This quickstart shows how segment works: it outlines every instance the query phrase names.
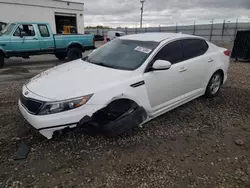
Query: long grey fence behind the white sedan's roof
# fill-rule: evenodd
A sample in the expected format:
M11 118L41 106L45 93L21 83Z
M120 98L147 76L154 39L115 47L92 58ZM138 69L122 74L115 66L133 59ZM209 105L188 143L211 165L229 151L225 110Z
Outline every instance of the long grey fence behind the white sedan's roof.
M238 22L234 23L226 22L210 24L194 24L193 25L178 25L168 27L145 27L145 28L118 28L110 30L119 30L129 34L147 33L147 32L172 32L172 33L185 33L191 35L197 35L206 38L213 42L233 42L238 30L249 30L250 22ZM109 29L85 29L95 35L106 36Z

